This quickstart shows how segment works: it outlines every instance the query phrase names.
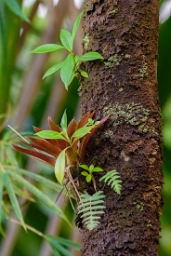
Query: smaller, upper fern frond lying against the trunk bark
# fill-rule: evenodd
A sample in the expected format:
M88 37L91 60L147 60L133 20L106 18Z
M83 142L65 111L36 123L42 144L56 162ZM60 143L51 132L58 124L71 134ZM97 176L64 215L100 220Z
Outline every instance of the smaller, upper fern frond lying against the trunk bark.
M117 193L121 194L121 177L116 170L111 170L107 172L104 176L99 179L99 182L108 182L108 185L111 184L112 189Z

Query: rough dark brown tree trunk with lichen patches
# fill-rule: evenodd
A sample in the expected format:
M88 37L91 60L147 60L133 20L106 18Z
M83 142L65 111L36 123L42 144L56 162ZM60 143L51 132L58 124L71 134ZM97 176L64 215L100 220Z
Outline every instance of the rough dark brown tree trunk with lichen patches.
M116 169L122 193L99 182L105 214L82 231L85 256L158 255L163 201L161 115L157 93L159 0L85 0L84 50L104 61L84 64L82 112L111 114L88 144L86 162ZM103 173L104 174L104 173Z

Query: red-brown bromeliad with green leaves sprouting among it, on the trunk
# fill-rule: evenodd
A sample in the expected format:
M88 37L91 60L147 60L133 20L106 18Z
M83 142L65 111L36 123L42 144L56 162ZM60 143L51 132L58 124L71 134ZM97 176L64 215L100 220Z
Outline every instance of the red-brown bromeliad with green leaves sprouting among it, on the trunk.
M92 119L93 115L94 113L88 112L78 123L73 118L67 126L67 115L64 112L60 127L48 117L49 130L33 127L36 137L29 136L28 142L20 140L22 145L12 143L12 146L54 167L57 180L63 185L64 178L71 181L77 177L79 165L85 160L87 142L109 118L107 115L100 121L95 121Z

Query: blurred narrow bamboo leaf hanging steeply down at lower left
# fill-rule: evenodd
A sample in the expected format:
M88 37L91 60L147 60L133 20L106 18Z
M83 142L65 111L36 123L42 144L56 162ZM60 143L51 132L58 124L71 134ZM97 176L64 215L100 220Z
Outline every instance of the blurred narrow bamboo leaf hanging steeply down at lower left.
M5 181L5 186L7 188L7 193L9 195L9 198L10 198L10 201L11 201L11 204L12 204L12 207L20 221L20 223L22 224L22 226L24 227L24 229L26 229L25 227L25 223L24 223L24 220L22 218L22 213L20 211L20 206L19 206L19 202L18 202L18 199L14 193L14 190L13 190L13 187L12 187L12 182L8 176L8 174L6 173L5 176L4 176L4 181Z

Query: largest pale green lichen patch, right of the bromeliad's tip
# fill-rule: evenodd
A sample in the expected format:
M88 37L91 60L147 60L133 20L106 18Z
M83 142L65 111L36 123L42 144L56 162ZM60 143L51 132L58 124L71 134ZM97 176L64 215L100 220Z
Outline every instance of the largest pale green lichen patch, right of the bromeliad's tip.
M141 103L131 102L129 104L120 105L109 104L103 109L104 115L111 114L111 119L113 121L113 127L129 124L131 126L138 126L138 129L142 132L152 132L156 133L155 129L149 127L147 122L150 117L150 110L144 108ZM112 136L112 133L108 132L108 137Z

